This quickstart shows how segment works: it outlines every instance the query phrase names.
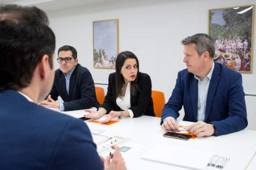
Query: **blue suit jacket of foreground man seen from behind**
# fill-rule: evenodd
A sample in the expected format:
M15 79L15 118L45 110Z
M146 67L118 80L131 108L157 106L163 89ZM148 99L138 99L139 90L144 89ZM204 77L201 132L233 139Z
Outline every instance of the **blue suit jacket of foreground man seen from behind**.
M103 169L90 130L80 119L0 92L0 169Z

